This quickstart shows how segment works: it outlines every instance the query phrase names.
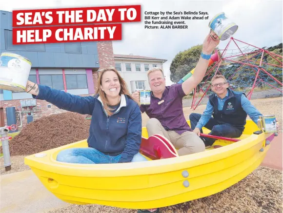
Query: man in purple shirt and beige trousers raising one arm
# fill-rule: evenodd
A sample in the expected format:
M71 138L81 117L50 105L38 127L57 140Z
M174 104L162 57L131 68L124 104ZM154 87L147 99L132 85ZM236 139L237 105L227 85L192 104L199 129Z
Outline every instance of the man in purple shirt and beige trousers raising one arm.
M150 118L146 124L148 136L154 134L165 136L178 149L179 156L205 150L202 139L186 122L182 97L188 95L202 81L211 53L218 44L218 37L214 32L210 32L202 44L202 54L194 74L182 84L165 86L162 69L154 67L147 71L151 89L150 104L141 105L140 109ZM133 93L132 97L139 103L139 92Z

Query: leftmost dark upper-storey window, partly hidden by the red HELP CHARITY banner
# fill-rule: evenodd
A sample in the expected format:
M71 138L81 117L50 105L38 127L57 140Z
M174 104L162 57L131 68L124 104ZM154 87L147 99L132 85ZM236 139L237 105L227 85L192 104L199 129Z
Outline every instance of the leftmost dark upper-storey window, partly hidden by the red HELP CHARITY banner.
M17 44L13 45L12 30L4 30L6 50L45 52L45 44Z

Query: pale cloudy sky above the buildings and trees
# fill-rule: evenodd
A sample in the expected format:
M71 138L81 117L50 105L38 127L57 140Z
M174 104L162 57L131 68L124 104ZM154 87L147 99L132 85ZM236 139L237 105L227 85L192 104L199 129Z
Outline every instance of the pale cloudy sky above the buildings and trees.
M236 23L239 28L233 35L257 47L273 46L283 41L283 1L282 0L2 0L0 10L48 9L90 6L142 6L141 22L123 23L122 40L113 41L114 54L134 54L138 56L162 58L166 85L170 81L170 64L181 51L202 44L209 33L208 23L218 13ZM186 20L188 29L144 29L144 12L208 12L207 20ZM221 41L224 49L229 39ZM239 43L239 47L247 44ZM229 48L236 48L229 46Z

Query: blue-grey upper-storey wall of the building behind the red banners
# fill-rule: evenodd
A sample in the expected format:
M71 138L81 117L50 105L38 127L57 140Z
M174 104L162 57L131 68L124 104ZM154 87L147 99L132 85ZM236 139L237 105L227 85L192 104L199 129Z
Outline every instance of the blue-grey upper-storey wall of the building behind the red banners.
M99 68L97 42L12 44L12 13L0 11L0 53L28 58L35 68Z

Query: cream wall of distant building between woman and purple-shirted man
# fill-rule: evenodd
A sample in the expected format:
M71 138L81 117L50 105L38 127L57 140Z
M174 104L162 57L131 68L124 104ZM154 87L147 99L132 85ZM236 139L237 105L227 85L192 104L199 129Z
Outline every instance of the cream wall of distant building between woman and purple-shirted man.
M162 69L162 62L152 60L127 60L115 58L115 64L121 64L121 77L126 81L130 93L136 90L150 90L148 78L146 75L145 64L148 64L149 69L153 68L153 65ZM131 71L126 70L126 64L130 64ZM136 64L140 64L140 70L137 71ZM139 82L136 82L139 81ZM141 82L142 81L142 82ZM138 88L137 88L138 86ZM141 87L142 86L142 87Z

